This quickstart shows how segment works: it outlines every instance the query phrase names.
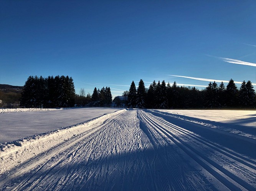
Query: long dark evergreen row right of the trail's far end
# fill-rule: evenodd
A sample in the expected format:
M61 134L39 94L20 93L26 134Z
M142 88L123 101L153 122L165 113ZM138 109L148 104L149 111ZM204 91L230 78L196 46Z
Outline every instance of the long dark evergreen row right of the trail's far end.
M243 81L238 89L233 79L225 87L214 81L203 90L195 87L179 87L174 82L153 81L146 89L142 79L136 89L132 81L128 93L130 108L255 108L256 96L251 81Z

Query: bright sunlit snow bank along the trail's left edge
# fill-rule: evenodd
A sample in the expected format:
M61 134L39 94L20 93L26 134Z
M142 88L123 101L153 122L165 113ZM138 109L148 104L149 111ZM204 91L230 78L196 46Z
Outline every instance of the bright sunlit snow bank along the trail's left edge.
M97 124L101 124L107 118L124 111L125 110L119 110L89 121L84 121L77 125L0 144L0 174L17 166L19 163L25 162L42 152L48 151L66 140L72 139L79 134L86 133L86 131L96 127Z

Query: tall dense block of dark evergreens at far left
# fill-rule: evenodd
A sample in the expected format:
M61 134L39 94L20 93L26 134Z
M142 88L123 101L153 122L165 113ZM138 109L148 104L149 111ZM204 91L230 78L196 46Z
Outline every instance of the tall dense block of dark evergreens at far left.
M75 89L69 76L29 76L20 98L20 107L73 107Z

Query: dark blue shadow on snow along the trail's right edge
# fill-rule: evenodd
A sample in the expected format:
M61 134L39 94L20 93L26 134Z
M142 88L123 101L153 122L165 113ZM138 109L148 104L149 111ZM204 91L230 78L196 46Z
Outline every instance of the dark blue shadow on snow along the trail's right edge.
M256 128L251 128L248 126L243 126L244 122L239 120L234 120L233 123L227 124L221 122L215 122L210 120L201 120L194 117L187 117L185 115L170 114L167 112L152 112L147 110L146 112L152 113L157 117L162 117L164 120L177 125L181 128L192 131L203 138L206 138L212 142L220 144L228 149L236 151L240 154L247 155L253 159L256 159L256 140L251 138L244 138L243 136L234 135L233 133L224 132L222 130L213 129L206 127L205 125L200 125L198 123L193 123L190 121L182 120L180 118L185 118L192 121L200 121L206 124L211 124L215 126L222 126L225 128L235 129L242 131L244 133L256 135ZM178 117L178 118L177 118ZM249 120L254 120L255 117L252 116Z

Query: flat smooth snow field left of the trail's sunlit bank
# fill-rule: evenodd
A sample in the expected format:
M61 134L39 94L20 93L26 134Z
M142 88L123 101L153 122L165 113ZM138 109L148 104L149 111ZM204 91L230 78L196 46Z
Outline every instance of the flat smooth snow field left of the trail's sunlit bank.
M1 109L0 143L72 126L111 113L115 108Z

